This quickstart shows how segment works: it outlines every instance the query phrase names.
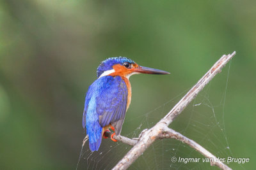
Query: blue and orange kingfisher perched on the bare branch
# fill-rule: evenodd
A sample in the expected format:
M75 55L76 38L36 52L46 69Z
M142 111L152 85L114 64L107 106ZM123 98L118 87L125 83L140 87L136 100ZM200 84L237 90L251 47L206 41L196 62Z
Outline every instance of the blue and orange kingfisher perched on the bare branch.
M83 128L89 137L90 150L98 151L104 132L112 129L120 135L125 113L131 103L133 74L170 74L166 71L143 67L127 57L111 57L97 68L97 80L88 88L83 111Z

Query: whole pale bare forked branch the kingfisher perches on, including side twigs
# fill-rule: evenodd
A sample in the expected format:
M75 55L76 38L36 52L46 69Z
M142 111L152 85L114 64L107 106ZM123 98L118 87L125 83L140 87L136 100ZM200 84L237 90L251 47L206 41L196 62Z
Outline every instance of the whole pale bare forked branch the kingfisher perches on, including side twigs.
M234 57L235 54L236 52L233 52L232 54L228 54L228 55L223 55L211 67L211 69L196 83L196 85L192 87L192 89L189 90L189 92L182 99L180 99L179 103L177 103L164 118L162 118L156 125L154 125L154 127L152 127L151 129L148 129L147 131L144 131L143 134L141 134L138 142L135 142L136 140L130 139L132 140L132 142L136 144L124 156L124 158L120 160L118 164L116 164L116 166L113 169L127 169L129 166L131 166L131 164L136 159L138 159L138 157L140 157L140 155L143 152L145 152L148 146L150 146L156 139L160 139L160 138L178 139L188 144L189 146L194 148L196 151L202 153L202 155L204 155L205 157L212 158L212 162L211 162L212 166L218 166L221 169L230 169L230 167L228 167L227 165L214 159L216 157L212 155L212 153L205 150L205 148L198 145L198 143L196 143L191 139L186 138L185 136L182 136L182 134L178 132L173 131L172 129L168 128L168 125L170 125L173 122L174 118L177 117L184 110L184 108L186 108L186 106L188 106L188 104L196 97L196 95L202 89L204 89L205 85L207 85L207 83L209 83L209 81L211 81L212 78L216 76L216 74L220 73L221 69L227 64L229 60L232 59L232 57ZM125 138L124 136L114 136L114 139L118 141L122 141L122 139L124 138ZM134 143L132 143L132 145Z

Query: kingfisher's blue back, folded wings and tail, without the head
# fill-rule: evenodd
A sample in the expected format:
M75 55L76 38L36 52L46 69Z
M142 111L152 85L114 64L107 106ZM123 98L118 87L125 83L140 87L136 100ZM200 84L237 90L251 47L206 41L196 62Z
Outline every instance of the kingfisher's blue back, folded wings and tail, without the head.
M127 105L127 87L120 76L103 76L95 80L86 94L83 127L92 151L98 150L102 127L112 124L120 134Z

